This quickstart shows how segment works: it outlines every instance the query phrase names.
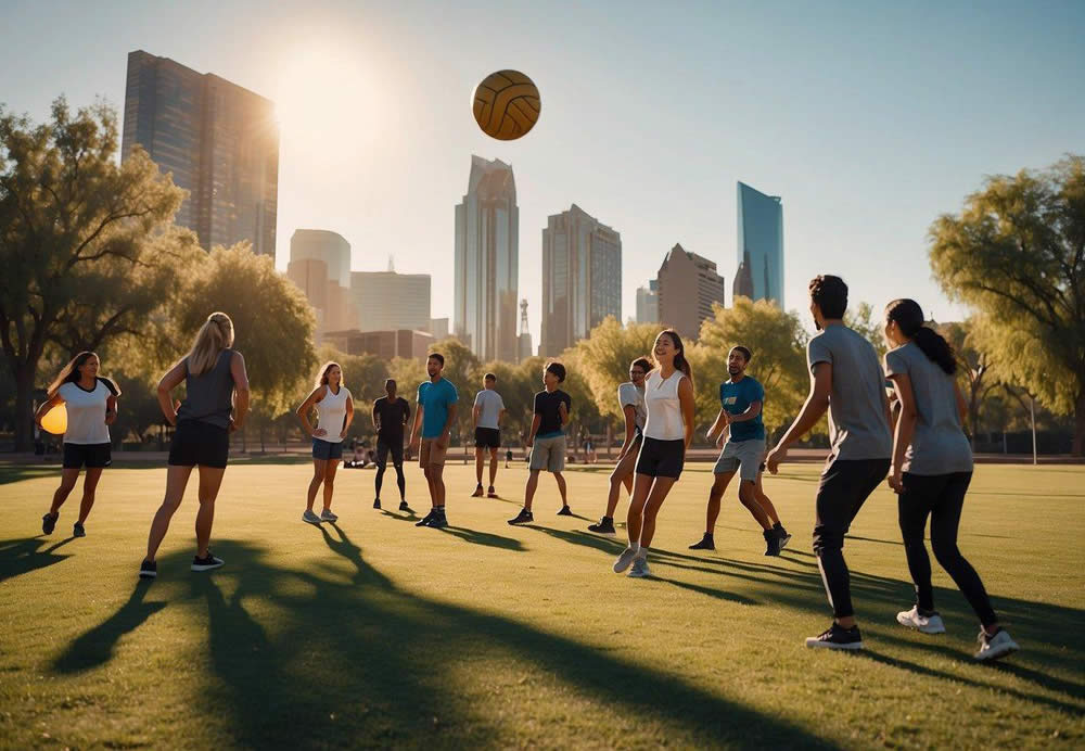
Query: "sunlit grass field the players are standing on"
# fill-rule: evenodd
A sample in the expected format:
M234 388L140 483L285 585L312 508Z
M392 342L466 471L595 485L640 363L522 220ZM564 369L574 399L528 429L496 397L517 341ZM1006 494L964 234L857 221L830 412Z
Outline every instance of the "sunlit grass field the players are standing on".
M939 569L949 633L896 625L911 586L884 489L845 546L867 650L805 649L829 622L809 551L817 468L767 481L795 535L771 559L733 491L719 549L687 550L711 467L687 470L654 578L633 580L610 570L622 543L585 529L603 467L567 472L576 518L552 515L544 478L537 523L513 529L522 468L493 500L467 497L473 468L449 466L451 526L436 531L370 508L365 470L340 472L336 525L303 524L306 464L239 461L216 511L226 567L188 570L191 486L150 585L136 573L163 468L107 470L82 539L66 538L78 488L39 535L56 469L0 468L0 746L1085 744L1085 468L978 468L960 546L1022 646L978 665L975 619ZM414 467L408 499L429 508Z

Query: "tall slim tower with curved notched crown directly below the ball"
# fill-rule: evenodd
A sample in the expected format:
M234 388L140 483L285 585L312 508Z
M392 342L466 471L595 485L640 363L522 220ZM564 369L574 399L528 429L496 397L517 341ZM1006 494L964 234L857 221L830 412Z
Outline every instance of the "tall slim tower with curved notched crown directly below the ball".
M452 326L483 360L516 360L520 208L512 167L471 157L463 202L456 206Z

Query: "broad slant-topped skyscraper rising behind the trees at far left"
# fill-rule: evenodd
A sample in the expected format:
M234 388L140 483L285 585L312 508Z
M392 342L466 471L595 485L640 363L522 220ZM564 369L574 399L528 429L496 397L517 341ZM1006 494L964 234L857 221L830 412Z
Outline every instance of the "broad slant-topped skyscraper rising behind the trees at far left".
M177 224L205 249L241 240L275 256L279 128L275 104L142 50L128 53L122 156L139 144L189 191Z

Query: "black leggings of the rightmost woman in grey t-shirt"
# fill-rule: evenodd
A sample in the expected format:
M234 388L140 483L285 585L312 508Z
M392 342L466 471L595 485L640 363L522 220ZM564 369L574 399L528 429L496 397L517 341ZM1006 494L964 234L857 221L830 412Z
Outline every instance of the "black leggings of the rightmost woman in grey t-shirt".
M934 588L931 586L931 559L923 544L927 517L931 517L931 547L939 564L953 577L957 588L980 616L980 623L991 626L998 623L991 598L975 569L957 549L957 527L965 494L972 481L971 472L952 474L904 474L904 493L897 501L904 551L908 570L916 583L916 604L921 610L934 610Z

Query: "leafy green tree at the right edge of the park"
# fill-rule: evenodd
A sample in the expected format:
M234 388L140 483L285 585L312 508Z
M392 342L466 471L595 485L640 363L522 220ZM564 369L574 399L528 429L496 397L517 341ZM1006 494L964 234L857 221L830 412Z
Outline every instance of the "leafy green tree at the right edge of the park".
M931 226L931 266L950 297L993 327L992 354L1058 413L1085 453L1085 158L987 178L960 215ZM1035 346L1030 346L1035 345ZM1023 353L1029 356L1022 356Z

